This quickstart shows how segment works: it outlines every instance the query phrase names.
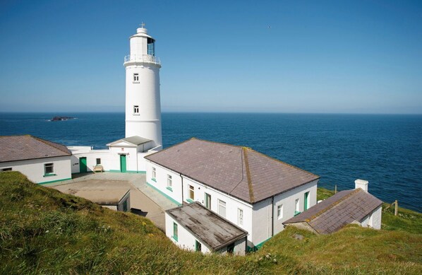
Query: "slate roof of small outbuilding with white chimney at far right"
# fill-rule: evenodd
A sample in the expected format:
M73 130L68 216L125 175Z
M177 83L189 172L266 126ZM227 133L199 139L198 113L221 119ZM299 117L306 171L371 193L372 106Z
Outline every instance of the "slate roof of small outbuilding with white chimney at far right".
M354 221L361 222L381 204L380 199L361 188L345 190L284 221L283 224L308 223L316 232L330 234Z

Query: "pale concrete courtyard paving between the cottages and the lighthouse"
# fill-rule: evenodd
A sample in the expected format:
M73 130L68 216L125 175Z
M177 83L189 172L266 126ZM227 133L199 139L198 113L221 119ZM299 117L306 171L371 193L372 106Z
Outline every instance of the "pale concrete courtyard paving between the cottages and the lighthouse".
M174 201L164 197L153 187L147 185L145 174L101 172L73 175L72 180L44 185L61 192L74 194L80 190L102 190L113 192L114 189L131 190L131 209L149 218L165 231L164 211L177 206Z

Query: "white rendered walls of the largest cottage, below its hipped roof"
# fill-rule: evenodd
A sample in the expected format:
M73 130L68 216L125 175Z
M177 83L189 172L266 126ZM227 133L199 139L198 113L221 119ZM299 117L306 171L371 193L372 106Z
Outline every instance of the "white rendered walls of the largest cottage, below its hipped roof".
M308 208L316 204L318 180L258 203L250 204L189 177L180 175L178 172L157 165L157 163L152 163L150 160L146 160L145 167L147 183L179 204L199 201L205 206L205 193L207 193L211 195L210 210L219 213L218 201L224 201L226 203L226 215L224 218L248 232L248 247L250 248L259 246L273 235L284 230L282 222L294 216L296 199L300 199L300 211L303 211L303 199L306 192L309 192ZM155 168L155 178L152 177L152 168ZM171 175L171 188L167 187L167 175ZM189 185L194 189L192 201L189 199ZM280 204L283 205L284 213L283 218L278 219L277 206ZM239 223L239 209L243 211L243 224Z

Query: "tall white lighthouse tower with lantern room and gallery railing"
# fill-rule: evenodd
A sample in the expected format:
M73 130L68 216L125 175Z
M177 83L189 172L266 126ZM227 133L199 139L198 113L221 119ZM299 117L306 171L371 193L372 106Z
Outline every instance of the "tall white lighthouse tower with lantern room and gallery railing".
M144 24L131 36L131 52L126 67L126 138L140 136L162 146L161 107L159 102L159 68L155 57L155 40Z

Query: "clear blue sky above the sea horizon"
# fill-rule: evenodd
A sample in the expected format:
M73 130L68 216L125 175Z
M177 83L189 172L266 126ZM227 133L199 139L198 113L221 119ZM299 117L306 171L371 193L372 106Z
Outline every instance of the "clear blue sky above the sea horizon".
M123 112L141 22L164 112L422 113L422 1L256 0L2 0L0 111Z

